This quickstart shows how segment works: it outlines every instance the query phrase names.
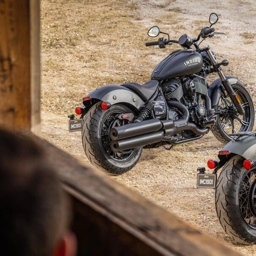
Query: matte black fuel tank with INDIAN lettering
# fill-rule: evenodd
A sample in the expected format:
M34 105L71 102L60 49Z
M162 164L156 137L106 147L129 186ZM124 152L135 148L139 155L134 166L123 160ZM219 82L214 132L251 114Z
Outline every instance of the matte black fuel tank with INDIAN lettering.
M178 50L162 60L153 70L151 79L164 80L198 73L203 67L203 58L198 52Z

